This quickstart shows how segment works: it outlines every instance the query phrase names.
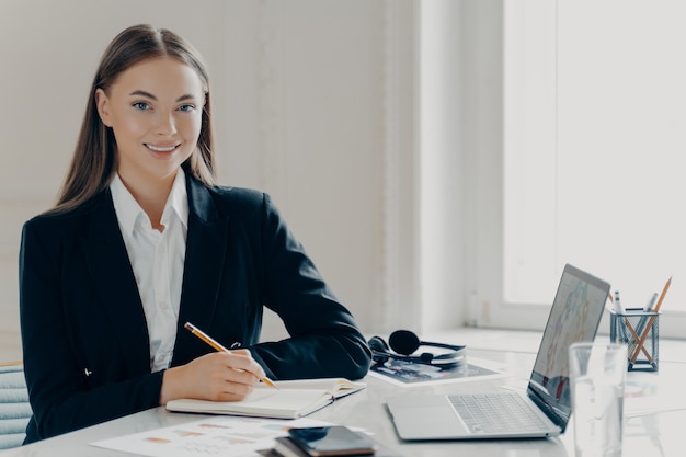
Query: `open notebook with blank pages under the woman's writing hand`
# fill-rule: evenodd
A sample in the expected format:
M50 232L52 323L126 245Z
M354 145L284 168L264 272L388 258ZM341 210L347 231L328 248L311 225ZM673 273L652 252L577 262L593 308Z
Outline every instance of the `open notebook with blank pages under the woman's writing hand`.
M167 409L176 412L296 419L332 403L336 398L367 387L365 382L344 378L298 379L274 384L278 390L260 384L241 401L179 399L169 401Z

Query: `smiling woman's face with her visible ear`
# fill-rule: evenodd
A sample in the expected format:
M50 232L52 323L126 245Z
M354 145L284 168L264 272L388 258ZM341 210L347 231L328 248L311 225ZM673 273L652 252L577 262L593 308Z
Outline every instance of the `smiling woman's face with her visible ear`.
M195 70L160 57L123 71L95 92L102 122L112 127L122 180L171 183L201 134L205 91Z

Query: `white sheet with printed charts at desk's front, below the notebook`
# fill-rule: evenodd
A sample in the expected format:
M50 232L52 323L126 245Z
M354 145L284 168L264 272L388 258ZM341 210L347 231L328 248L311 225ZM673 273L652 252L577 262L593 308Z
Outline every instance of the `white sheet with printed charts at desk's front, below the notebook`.
M259 418L210 416L199 421L91 443L91 446L150 457L260 457L260 449L274 445L294 426L322 426L331 423L312 419L271 420Z

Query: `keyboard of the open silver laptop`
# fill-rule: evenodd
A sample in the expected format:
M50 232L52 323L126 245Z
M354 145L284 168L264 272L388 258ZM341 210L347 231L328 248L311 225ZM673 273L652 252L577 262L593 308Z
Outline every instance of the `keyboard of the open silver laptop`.
M512 433L545 427L515 392L449 395L448 400L472 433Z

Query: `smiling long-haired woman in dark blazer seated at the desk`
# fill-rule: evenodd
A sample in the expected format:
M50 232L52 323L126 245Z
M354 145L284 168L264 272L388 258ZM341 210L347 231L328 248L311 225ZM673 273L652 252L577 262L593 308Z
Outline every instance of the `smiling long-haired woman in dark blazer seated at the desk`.
M89 96L59 203L22 232L26 441L178 398L240 400L266 377L363 377L355 319L270 196L214 184L197 52L126 28ZM287 338L261 341L264 308ZM188 321L241 349L214 352L179 331Z

